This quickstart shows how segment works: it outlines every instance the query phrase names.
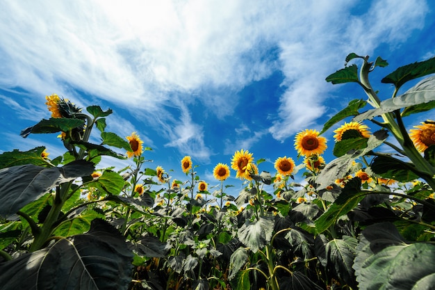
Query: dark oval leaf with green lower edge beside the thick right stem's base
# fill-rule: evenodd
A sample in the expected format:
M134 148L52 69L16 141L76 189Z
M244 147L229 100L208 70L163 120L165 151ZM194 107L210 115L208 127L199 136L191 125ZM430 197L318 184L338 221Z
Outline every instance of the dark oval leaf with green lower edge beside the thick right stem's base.
M398 182L411 182L418 179L418 170L412 163L395 159L389 155L376 156L370 166L377 175Z

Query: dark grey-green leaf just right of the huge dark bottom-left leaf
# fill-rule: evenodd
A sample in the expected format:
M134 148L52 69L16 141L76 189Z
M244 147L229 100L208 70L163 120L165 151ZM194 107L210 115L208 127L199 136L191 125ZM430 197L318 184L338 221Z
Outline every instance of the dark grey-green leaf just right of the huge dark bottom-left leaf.
M170 250L170 244L162 243L155 236L146 233L140 241L131 241L129 248L139 256L163 258Z

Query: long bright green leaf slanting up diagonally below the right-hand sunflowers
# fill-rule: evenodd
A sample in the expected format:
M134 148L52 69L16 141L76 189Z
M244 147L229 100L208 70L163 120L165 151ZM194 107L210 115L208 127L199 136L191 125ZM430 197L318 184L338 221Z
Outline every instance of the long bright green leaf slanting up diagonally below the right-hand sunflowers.
M354 177L345 185L342 193L325 213L315 220L315 229L320 234L325 232L336 220L354 209L363 200L366 193L360 192L361 179Z

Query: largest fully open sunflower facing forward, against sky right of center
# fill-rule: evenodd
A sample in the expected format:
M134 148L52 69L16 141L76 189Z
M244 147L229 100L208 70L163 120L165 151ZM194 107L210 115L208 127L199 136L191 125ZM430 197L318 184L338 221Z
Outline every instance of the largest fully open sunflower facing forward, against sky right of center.
M319 132L312 129L305 129L295 137L295 148L297 154L310 156L311 154L322 154L327 148L325 137L319 137Z

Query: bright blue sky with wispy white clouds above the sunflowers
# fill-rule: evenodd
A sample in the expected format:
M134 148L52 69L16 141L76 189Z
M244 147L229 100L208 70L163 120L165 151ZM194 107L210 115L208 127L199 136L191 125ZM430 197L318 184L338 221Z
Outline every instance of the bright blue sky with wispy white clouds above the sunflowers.
M112 108L107 131L136 131L153 149L147 167L173 169L174 178L186 179L180 161L190 155L201 179L217 184L214 166L240 149L266 159L260 170L273 175L278 157L297 161L298 131L320 131L366 98L354 84L325 81L347 54L388 61L372 74L386 98L392 88L379 79L434 56L434 31L435 4L421 0L1 1L0 153L65 152L56 134L19 137L49 118L45 96L56 93ZM324 135L327 161L338 125ZM232 171L227 184L240 183Z

